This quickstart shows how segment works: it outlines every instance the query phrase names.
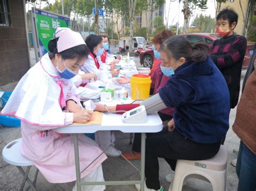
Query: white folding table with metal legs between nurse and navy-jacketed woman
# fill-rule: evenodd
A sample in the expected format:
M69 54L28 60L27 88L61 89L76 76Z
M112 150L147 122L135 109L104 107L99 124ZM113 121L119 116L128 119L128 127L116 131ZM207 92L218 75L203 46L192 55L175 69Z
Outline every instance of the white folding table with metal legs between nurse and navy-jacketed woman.
M77 176L77 190L81 190L82 185L135 185L140 183L141 190L144 190L145 180L145 139L146 133L159 132L163 129L163 124L158 114L147 116L145 123L124 123L121 115L103 114L102 125L86 125L86 126L64 126L55 129L58 133L71 133L74 136L75 162ZM118 130L124 133L142 133L142 147L140 160L140 180L134 181L105 181L105 182L81 182L80 181L80 165L78 152L78 133L95 133L96 131Z

